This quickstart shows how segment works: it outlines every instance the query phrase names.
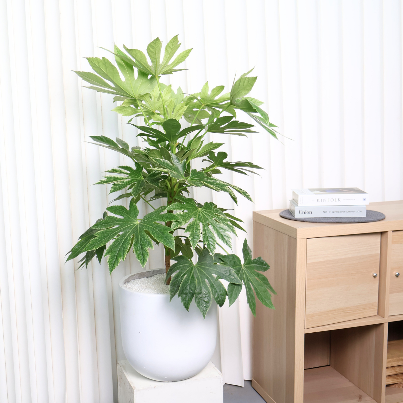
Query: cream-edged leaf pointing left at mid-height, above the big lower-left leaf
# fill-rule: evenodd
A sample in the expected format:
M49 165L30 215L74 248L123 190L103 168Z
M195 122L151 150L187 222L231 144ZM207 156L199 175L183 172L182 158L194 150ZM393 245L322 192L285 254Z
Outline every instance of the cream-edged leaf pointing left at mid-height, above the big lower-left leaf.
M128 189L131 189L131 194L134 197L137 197L137 195L145 187L143 167L137 162L135 162L135 169L133 169L131 166L118 166L117 168L112 168L106 172L124 175L107 175L104 176L104 179L101 179L96 183L96 185L113 183L109 193L117 192L127 187Z

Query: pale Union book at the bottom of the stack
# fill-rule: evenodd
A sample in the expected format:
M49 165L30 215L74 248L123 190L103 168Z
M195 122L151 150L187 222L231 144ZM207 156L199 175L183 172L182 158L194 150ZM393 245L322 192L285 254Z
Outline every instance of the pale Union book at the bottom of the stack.
M367 208L361 206L297 206L290 200L291 214L295 218L324 218L324 217L365 217Z

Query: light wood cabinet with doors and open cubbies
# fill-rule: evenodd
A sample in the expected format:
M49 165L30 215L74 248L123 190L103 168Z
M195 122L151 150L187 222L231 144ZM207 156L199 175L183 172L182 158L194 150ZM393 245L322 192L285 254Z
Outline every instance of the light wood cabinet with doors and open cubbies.
M276 309L258 303L253 319L252 386L267 402L403 402L403 388L385 386L388 336L403 339L403 201L368 209L386 218L253 212L253 255L277 292Z

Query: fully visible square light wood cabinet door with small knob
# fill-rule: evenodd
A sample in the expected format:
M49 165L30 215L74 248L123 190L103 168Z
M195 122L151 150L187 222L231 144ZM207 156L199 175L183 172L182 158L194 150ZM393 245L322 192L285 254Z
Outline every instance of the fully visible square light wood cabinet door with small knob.
M380 233L307 239L305 328L378 313L379 253Z

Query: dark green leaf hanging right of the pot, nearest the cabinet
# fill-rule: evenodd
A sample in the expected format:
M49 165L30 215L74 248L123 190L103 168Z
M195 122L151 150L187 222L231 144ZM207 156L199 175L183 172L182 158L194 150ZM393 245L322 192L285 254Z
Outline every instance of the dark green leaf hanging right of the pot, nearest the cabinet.
M274 291L273 287L270 285L267 277L262 273L259 273L265 272L270 268L270 266L260 257L252 259L252 252L246 239L243 241L242 253L243 264L241 263L241 259L234 254L222 255L220 253L216 253L214 260L220 264L230 266L234 269L237 276L245 285L247 302L253 313L253 316L256 316L256 299L253 291L256 293L256 297L258 297L259 301L262 302L263 305L272 309L274 309L274 305L272 303L272 296L270 293L276 294L276 291ZM242 285L239 284L228 285L228 298L230 305L232 305L238 298L241 289Z

